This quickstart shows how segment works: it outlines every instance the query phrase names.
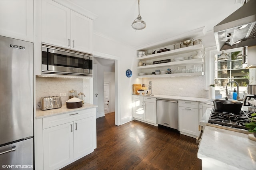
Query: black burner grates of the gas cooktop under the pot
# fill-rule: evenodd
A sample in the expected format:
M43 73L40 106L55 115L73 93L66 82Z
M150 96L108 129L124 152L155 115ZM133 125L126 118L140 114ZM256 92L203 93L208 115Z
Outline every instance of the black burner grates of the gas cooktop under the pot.
M243 110L238 115L235 115L227 112L222 113L213 108L208 123L247 130L248 128L243 124L248 122L248 118L251 117L252 113L255 112Z

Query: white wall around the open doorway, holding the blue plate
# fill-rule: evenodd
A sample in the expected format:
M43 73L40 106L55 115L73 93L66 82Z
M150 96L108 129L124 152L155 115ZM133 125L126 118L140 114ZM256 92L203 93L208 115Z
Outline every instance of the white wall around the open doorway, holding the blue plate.
M120 120L121 124L132 120L132 84L141 83L141 79L137 79L137 60L136 49L129 47L120 42L115 42L106 37L94 34L94 51L113 55L120 60L120 72L118 72L120 87ZM126 77L126 70L131 69L133 76Z

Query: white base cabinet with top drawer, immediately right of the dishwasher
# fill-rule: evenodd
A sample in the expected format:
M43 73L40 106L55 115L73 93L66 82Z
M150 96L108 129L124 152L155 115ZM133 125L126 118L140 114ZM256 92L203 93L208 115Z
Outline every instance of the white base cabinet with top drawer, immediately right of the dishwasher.
M179 100L179 131L196 138L199 134L199 103Z

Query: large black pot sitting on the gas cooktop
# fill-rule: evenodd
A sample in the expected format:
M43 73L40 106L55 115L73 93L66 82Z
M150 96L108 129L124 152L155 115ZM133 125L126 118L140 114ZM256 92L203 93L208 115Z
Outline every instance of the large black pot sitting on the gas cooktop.
M214 108L219 112L239 114L243 103L237 100L214 99Z

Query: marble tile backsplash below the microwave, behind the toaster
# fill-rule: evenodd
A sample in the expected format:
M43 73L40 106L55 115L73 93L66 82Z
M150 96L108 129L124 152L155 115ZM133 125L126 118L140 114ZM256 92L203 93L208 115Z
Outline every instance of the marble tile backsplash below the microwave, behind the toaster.
M83 79L76 78L56 78L56 77L36 77L36 108L40 108L40 99L46 96L60 96L62 105L69 99L69 91L76 90L83 93ZM39 105L39 106L38 106Z

